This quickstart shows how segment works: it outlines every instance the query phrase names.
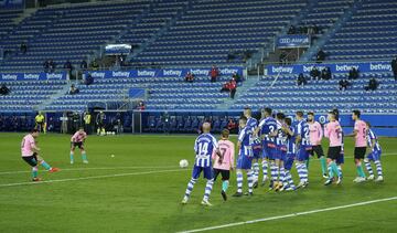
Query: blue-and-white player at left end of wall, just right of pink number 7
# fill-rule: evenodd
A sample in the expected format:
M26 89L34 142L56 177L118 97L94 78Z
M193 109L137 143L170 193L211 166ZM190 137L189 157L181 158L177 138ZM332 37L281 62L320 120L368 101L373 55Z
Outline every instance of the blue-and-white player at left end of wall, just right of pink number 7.
M238 134L238 159L237 159L237 192L233 197L243 195L243 170L247 172L248 192L247 195L253 195L254 172L253 165L253 131L247 127L247 118L243 116L239 119L240 131Z

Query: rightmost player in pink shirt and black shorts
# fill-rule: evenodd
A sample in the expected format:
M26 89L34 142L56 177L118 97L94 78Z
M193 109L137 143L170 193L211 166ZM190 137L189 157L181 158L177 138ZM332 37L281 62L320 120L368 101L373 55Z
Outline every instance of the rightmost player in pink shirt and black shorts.
M364 169L362 167L362 160L366 153L368 134L368 127L366 123L361 120L360 117L360 110L353 110L352 119L355 120L354 130L353 134L348 135L355 137L354 162L357 169L357 177L353 181L357 183L364 182L366 180Z

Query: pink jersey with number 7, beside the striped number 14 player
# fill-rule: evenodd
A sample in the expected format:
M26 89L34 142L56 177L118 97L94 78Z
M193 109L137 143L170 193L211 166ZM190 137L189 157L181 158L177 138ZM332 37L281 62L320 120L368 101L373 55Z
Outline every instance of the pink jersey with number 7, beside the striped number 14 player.
M219 157L216 151L213 151L212 158L214 159L214 168L222 170L230 170L234 167L234 144L229 140L221 139L218 141L221 153L223 155L222 163L219 163Z

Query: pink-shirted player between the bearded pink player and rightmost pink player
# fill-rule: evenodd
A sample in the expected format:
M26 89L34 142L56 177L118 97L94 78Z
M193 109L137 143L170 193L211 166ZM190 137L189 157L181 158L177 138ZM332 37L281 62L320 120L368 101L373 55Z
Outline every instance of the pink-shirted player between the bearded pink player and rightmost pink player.
M334 176L337 177L336 184L342 182L342 172L337 170L336 161L340 160L342 153L342 140L343 131L340 123L336 120L335 113L330 112L328 114L329 124L325 125L324 136L330 139L330 147L328 150L328 171L329 179L324 186L329 186L334 181Z

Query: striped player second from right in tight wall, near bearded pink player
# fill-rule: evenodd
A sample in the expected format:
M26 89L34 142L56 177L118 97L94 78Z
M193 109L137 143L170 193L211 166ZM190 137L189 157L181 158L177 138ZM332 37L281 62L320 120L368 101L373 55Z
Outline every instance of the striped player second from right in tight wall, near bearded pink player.
M296 148L296 134L294 134L294 127L292 127L292 120L291 118L287 117L286 118L286 124L287 127L286 128L286 133L287 133L287 156L285 159L285 180L283 180L283 186L280 189L280 191L293 191L296 190L296 186L293 184L293 180L292 180L292 176L291 176L291 168L293 166L293 161L296 159L296 155L297 155L297 148Z

